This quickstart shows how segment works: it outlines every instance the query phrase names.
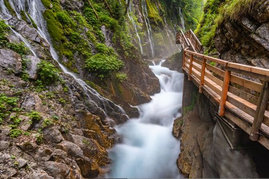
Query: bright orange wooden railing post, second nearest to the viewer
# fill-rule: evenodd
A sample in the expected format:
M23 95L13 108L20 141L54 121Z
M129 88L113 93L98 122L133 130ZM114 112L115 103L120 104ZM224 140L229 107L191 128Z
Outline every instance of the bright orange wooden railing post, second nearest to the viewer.
M225 107L227 94L229 90L230 79L231 79L231 71L228 71L226 69L224 73L224 81L222 85L222 93L221 93L221 98L220 98L220 103L219 103L219 116L224 116L224 107Z

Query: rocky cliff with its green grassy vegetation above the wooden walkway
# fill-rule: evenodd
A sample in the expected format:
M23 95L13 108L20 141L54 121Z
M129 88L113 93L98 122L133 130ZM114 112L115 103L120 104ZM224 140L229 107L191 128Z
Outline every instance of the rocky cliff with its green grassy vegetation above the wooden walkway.
M269 2L208 1L196 33L206 53L223 60L269 68Z

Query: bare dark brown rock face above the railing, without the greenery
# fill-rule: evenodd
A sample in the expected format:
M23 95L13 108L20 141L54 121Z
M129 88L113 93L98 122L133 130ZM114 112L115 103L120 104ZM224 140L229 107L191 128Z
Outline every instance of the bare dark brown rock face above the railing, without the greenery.
M269 1L257 1L246 16L224 20L215 47L224 60L269 68Z

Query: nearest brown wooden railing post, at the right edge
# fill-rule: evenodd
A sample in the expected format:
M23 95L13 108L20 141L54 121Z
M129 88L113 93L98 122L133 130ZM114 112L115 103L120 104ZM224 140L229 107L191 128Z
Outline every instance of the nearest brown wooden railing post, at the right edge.
M252 141L258 141L259 139L259 129L261 127L264 118L268 98L269 98L269 83L267 81L263 81L262 91L260 93L256 113L254 116L254 121L251 128L250 139Z

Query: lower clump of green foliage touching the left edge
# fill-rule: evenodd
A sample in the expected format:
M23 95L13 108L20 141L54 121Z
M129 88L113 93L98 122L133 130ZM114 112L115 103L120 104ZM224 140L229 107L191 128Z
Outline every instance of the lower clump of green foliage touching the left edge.
M0 93L0 124L11 113L11 110L16 107L18 98L7 97L5 94Z

